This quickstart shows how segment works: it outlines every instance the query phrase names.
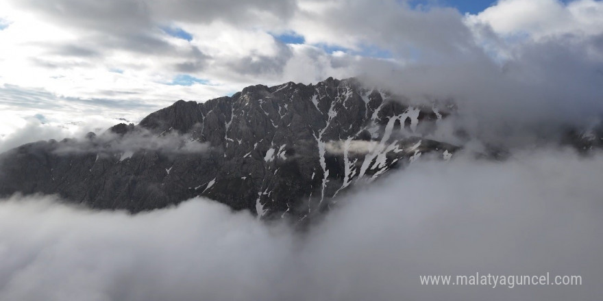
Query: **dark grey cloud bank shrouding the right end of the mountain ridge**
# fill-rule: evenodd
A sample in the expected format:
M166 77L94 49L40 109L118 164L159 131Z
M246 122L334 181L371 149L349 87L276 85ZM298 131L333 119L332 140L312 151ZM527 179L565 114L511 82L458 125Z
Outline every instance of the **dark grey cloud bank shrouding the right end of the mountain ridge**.
M414 101L454 101L458 126L471 137L506 146L531 144L602 120L603 61L589 55L602 49L595 46L600 40L527 41L502 62L469 52L444 63L366 66L362 79Z

